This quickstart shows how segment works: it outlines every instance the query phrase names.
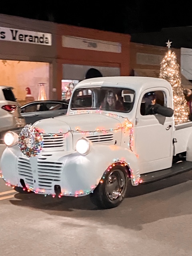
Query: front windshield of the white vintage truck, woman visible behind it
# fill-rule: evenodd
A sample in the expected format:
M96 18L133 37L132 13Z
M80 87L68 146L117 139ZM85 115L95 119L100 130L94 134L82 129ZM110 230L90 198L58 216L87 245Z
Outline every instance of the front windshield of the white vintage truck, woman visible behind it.
M134 105L134 98L134 90L128 88L80 88L74 91L70 108L72 110L100 109L130 112Z

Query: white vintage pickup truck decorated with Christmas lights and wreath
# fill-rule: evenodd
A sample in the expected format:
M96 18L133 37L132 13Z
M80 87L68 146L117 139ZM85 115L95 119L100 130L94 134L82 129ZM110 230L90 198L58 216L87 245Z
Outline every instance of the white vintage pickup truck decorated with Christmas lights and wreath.
M26 125L4 137L2 178L20 193L86 196L98 208L118 206L127 187L192 169L192 122L146 114L146 95L173 109L160 78L101 77L80 82L66 116ZM121 108L109 110L108 96ZM109 98L109 97L108 97ZM101 108L102 106L102 108ZM129 182L130 180L130 182Z

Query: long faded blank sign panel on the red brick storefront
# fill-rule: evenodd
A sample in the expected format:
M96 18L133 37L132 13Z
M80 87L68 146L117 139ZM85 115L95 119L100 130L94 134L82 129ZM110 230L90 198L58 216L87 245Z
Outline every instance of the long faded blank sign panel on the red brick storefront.
M120 43L92 40L88 38L80 38L74 36L62 36L62 46L68 48L77 48L102 52L121 52Z

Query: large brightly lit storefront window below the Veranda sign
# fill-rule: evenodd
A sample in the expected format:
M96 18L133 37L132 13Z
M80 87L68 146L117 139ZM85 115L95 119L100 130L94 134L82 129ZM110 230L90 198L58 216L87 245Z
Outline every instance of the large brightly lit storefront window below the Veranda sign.
M20 105L49 99L50 64L17 60L0 60L0 85L13 87Z

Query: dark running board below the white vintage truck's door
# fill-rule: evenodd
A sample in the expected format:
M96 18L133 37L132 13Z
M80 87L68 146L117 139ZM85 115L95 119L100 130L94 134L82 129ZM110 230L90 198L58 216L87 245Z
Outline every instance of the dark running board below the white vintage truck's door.
M155 172L148 172L141 174L140 179L143 180L141 184L147 184L158 180L180 174L182 172L188 172L192 170L192 162L180 161L172 165L168 169L163 169Z

